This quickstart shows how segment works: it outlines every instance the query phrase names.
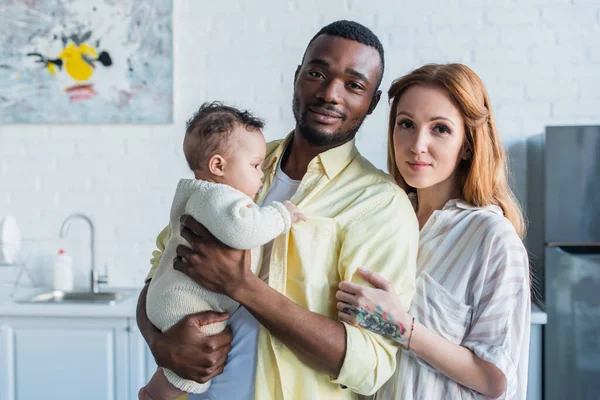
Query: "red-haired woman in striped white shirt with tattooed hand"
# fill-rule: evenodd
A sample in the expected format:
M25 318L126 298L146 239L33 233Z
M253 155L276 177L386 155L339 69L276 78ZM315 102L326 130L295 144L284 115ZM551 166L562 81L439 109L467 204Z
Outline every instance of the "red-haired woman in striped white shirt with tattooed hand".
M420 226L407 311L381 276L344 281L339 319L401 343L377 399L525 399L530 284L524 221L485 87L461 64L396 80L388 168Z

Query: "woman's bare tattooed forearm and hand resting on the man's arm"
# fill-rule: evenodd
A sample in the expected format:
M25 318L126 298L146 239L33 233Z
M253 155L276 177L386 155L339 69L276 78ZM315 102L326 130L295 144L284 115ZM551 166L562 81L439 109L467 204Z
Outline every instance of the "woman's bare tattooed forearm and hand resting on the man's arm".
M341 321L395 339L448 378L485 396L504 393L506 379L495 365L414 321L388 281L377 273L359 271L374 287L340 283L336 297Z

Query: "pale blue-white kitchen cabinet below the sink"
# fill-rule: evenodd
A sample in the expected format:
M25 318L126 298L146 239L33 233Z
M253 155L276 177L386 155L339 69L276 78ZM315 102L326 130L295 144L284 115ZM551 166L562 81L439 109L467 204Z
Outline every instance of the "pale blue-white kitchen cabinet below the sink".
M0 399L137 399L155 369L131 318L0 317Z

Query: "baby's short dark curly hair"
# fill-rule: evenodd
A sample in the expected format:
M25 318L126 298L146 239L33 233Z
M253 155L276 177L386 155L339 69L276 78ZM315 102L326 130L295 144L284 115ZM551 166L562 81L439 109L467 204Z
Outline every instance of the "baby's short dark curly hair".
M236 125L249 131L260 131L265 123L247 110L219 101L202 104L186 123L183 152L190 168L203 169L210 157L226 153Z

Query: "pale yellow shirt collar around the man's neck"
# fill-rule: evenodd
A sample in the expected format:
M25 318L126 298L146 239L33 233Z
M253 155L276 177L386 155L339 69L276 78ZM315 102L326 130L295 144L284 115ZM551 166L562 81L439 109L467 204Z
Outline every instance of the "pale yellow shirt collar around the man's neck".
M277 165L278 160L283 155L283 152L287 148L288 144L291 142L292 137L294 135L294 131L292 131L288 136L279 143L277 149L273 151L265 165L265 171L275 171L275 166ZM355 140L344 143L341 146L334 147L333 149L329 149L323 153L317 155L317 157L313 158L309 163L309 169L315 165L321 165L325 174L329 179L333 179L337 174L339 174L354 158L358 155L358 149L356 148Z

